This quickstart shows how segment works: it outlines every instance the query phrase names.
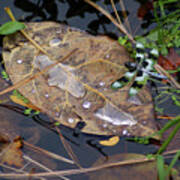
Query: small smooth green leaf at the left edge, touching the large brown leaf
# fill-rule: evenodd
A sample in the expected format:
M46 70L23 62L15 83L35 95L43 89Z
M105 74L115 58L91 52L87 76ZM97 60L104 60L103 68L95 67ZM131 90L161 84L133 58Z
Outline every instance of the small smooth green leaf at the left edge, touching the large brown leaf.
M25 25L18 21L10 21L0 27L0 35L8 35L24 29Z

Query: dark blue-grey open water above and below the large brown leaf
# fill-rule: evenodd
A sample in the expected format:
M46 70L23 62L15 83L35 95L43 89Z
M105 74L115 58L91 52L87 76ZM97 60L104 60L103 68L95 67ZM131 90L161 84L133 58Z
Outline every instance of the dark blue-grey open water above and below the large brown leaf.
M106 4L102 4L97 1L97 3L102 5L105 9L113 12L111 6L109 5L109 1L105 2ZM133 0L124 2L133 35L143 34L145 30L141 28L141 25L142 23L148 25L148 21L142 22L137 18L137 8L140 6L140 4L137 1ZM3 24L10 20L8 15L4 11L4 7L11 8L16 19L20 21L56 21L68 24L73 27L77 27L82 30L86 30L92 34L106 34L113 37L118 37L120 35L118 29L101 13L94 10L94 8L90 7L86 3L78 0L0 1L0 24ZM118 3L117 7L119 7ZM148 28L151 28L153 26L153 24L149 25ZM10 103L10 105L14 104ZM8 117L10 119L13 119L13 123L18 122L18 125L23 127L24 129L28 127L35 127L36 131L38 130L41 136L40 140L36 143L37 146L40 146L41 148L44 148L61 156L68 157L58 134L54 130L48 129L47 127L39 124L33 118L14 112L13 110L9 110L4 107L0 107L0 109L3 109L2 111L5 111L9 114ZM46 116L41 116L41 118L43 120L48 120L48 117ZM61 130L67 142L70 143L73 152L78 157L82 167L90 167L99 157L102 156L98 149L90 147L87 143L90 140L97 140L101 137L85 134L80 134L78 137L74 137L72 130L65 127L63 127ZM33 132L35 132L35 129ZM34 133L27 134L26 131L22 132L21 130L19 132L19 135L22 136L25 140L27 140L33 134ZM103 151L103 153L110 156L123 152L141 154L153 153L155 152L156 147L154 147L153 145L145 146L133 142L127 142L122 138L122 140L120 140L118 145L116 145L115 147L103 147L101 150ZM63 162L56 163L56 170L75 168L75 166ZM84 180L88 179L88 177L86 175L80 174L70 176L70 179Z

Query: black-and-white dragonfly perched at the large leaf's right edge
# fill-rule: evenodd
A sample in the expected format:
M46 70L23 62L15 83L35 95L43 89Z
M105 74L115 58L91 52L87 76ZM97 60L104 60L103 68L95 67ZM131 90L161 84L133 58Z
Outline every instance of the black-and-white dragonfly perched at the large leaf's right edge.
M157 62L159 52L155 48L145 48L140 42L136 42L135 62L125 63L128 71L118 80L111 84L112 89L119 89L127 85L133 79L129 89L129 96L136 95L140 89L147 83L150 77L158 79L167 79L166 76L153 72L154 64Z

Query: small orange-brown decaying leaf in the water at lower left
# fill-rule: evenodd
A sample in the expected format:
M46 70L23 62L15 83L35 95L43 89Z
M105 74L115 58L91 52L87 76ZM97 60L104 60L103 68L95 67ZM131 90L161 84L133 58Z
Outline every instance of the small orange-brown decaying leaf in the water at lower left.
M8 165L15 165L22 167L22 141L20 137L16 137L13 142L10 142L2 151L0 155L1 163L7 163Z

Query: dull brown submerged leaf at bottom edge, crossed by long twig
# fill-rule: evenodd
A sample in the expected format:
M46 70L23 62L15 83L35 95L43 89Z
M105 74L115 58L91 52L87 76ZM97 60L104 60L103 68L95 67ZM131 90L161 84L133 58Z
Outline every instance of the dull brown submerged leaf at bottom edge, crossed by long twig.
M137 163L138 162L138 163ZM142 154L134 153L123 153L113 156L109 156L107 161L104 161L104 157L98 159L93 167L101 165L111 164L109 168L102 168L101 170L95 171L89 174L90 180L119 180L119 179L133 179L133 180L154 180L158 179L158 169L156 161L147 161L147 157ZM114 166L112 164L114 163ZM121 164L122 163L122 164ZM121 164L121 165L117 165ZM164 166L167 171L168 166ZM175 172L178 170L172 169ZM172 174L172 179L179 179L178 173ZM169 179L169 178L168 178ZM165 180L165 179L163 179Z

